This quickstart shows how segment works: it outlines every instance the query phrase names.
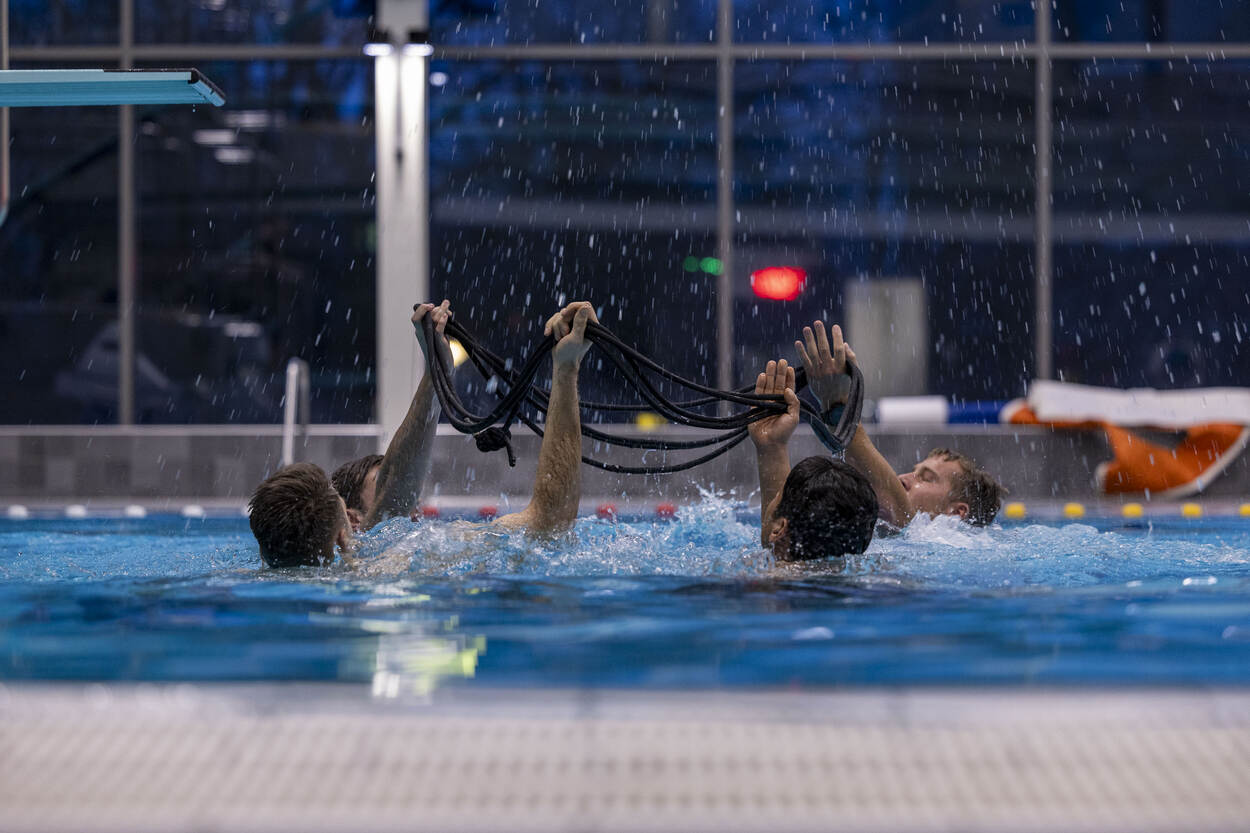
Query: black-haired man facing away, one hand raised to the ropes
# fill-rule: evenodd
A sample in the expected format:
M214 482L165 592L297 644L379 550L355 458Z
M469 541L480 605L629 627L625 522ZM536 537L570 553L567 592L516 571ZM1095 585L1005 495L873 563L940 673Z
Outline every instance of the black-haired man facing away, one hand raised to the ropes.
M876 525L876 494L841 460L809 457L790 468L790 437L799 425L794 368L769 361L755 393L780 394L786 413L750 427L760 472L760 543L779 562L862 553Z

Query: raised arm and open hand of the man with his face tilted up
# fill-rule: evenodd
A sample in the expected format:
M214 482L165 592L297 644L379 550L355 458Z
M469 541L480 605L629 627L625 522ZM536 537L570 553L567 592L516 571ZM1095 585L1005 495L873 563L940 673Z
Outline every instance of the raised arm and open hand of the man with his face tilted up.
M832 343L825 334L825 325L814 321L802 328L802 340L795 341L802 366L808 370L808 384L820 400L820 411L826 413L834 405L846 401L850 391L846 379L846 363L855 361L855 351L842 340L842 328L834 324ZM895 527L905 527L911 522L915 510L908 500L908 490L899 475L872 445L862 425L855 428L855 437L846 447L846 462L854 465L876 493L881 517Z

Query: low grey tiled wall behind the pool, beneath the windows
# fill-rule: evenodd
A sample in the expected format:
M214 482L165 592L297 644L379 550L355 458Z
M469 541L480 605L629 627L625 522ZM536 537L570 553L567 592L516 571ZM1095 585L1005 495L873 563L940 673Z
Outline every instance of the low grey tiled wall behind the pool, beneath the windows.
M516 468L502 452L482 454L471 438L440 428L434 455L431 497L528 495L539 440L516 430ZM1109 455L1094 432L1051 432L1000 425L935 427L932 429L870 430L886 459L910 468L939 445L959 449L996 473L1019 499L1084 499L1096 495L1094 469ZM664 435L689 438L698 432L666 428ZM328 472L340 463L374 452L370 427L318 427L299 449L300 459ZM596 458L624 464L659 460L658 453L629 449L585 449ZM140 427L122 428L0 428L0 499L75 500L132 498L136 500L246 500L255 485L272 473L281 453L276 427ZM824 448L806 429L791 447L798 462ZM685 459L674 453L672 459ZM582 494L622 499L695 498L699 488L738 490L756 487L755 455L742 443L710 464L675 475L616 475L582 467ZM1208 494L1250 495L1250 453L1238 459Z

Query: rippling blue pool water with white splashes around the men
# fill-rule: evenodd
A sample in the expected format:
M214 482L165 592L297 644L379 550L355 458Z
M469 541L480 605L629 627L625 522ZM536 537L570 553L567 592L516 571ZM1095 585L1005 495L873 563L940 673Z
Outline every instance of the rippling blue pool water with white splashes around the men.
M1250 522L938 520L778 568L752 515L572 543L395 520L364 572L259 569L246 520L0 520L0 679L826 687L1250 683Z

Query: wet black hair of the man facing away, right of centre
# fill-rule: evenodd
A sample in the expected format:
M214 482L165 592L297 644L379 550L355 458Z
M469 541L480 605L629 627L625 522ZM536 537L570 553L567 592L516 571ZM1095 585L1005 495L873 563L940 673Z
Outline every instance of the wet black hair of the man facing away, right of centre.
M809 457L790 469L774 518L789 522L790 560L862 553L876 527L876 493L844 460Z

